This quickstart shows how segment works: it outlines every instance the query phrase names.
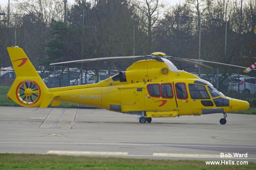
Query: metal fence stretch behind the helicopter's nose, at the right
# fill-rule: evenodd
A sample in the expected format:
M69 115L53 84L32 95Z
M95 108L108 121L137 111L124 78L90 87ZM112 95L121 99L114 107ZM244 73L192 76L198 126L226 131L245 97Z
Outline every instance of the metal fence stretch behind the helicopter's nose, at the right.
M244 73L237 69L190 69L187 70L201 79L207 80L224 95L231 98L256 99L256 74Z

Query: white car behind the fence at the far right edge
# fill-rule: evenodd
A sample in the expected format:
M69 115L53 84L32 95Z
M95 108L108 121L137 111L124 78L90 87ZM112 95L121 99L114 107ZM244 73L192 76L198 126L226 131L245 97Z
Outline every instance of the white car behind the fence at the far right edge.
M229 83L229 91L239 91L239 94L255 94L256 78L233 78Z

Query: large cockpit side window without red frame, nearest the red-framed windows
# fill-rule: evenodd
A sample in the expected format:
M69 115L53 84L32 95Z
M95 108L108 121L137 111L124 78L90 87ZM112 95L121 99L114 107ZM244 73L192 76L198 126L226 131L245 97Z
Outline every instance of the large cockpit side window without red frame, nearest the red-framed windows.
M199 84L188 84L191 99L210 99L205 86Z

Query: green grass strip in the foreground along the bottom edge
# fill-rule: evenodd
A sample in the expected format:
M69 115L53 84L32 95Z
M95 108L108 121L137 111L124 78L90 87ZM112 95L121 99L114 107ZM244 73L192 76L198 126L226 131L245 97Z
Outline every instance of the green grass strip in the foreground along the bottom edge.
M241 161L241 160L240 160ZM0 169L111 169L111 170L255 170L256 164L206 165L196 160L151 160L49 154L0 154Z

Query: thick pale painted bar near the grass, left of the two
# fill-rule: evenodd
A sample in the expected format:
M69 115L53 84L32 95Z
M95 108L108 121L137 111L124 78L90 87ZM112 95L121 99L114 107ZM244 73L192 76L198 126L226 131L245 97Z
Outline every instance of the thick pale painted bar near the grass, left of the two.
M128 155L128 152L93 152L93 151L60 151L50 150L48 154L70 154L70 155Z

